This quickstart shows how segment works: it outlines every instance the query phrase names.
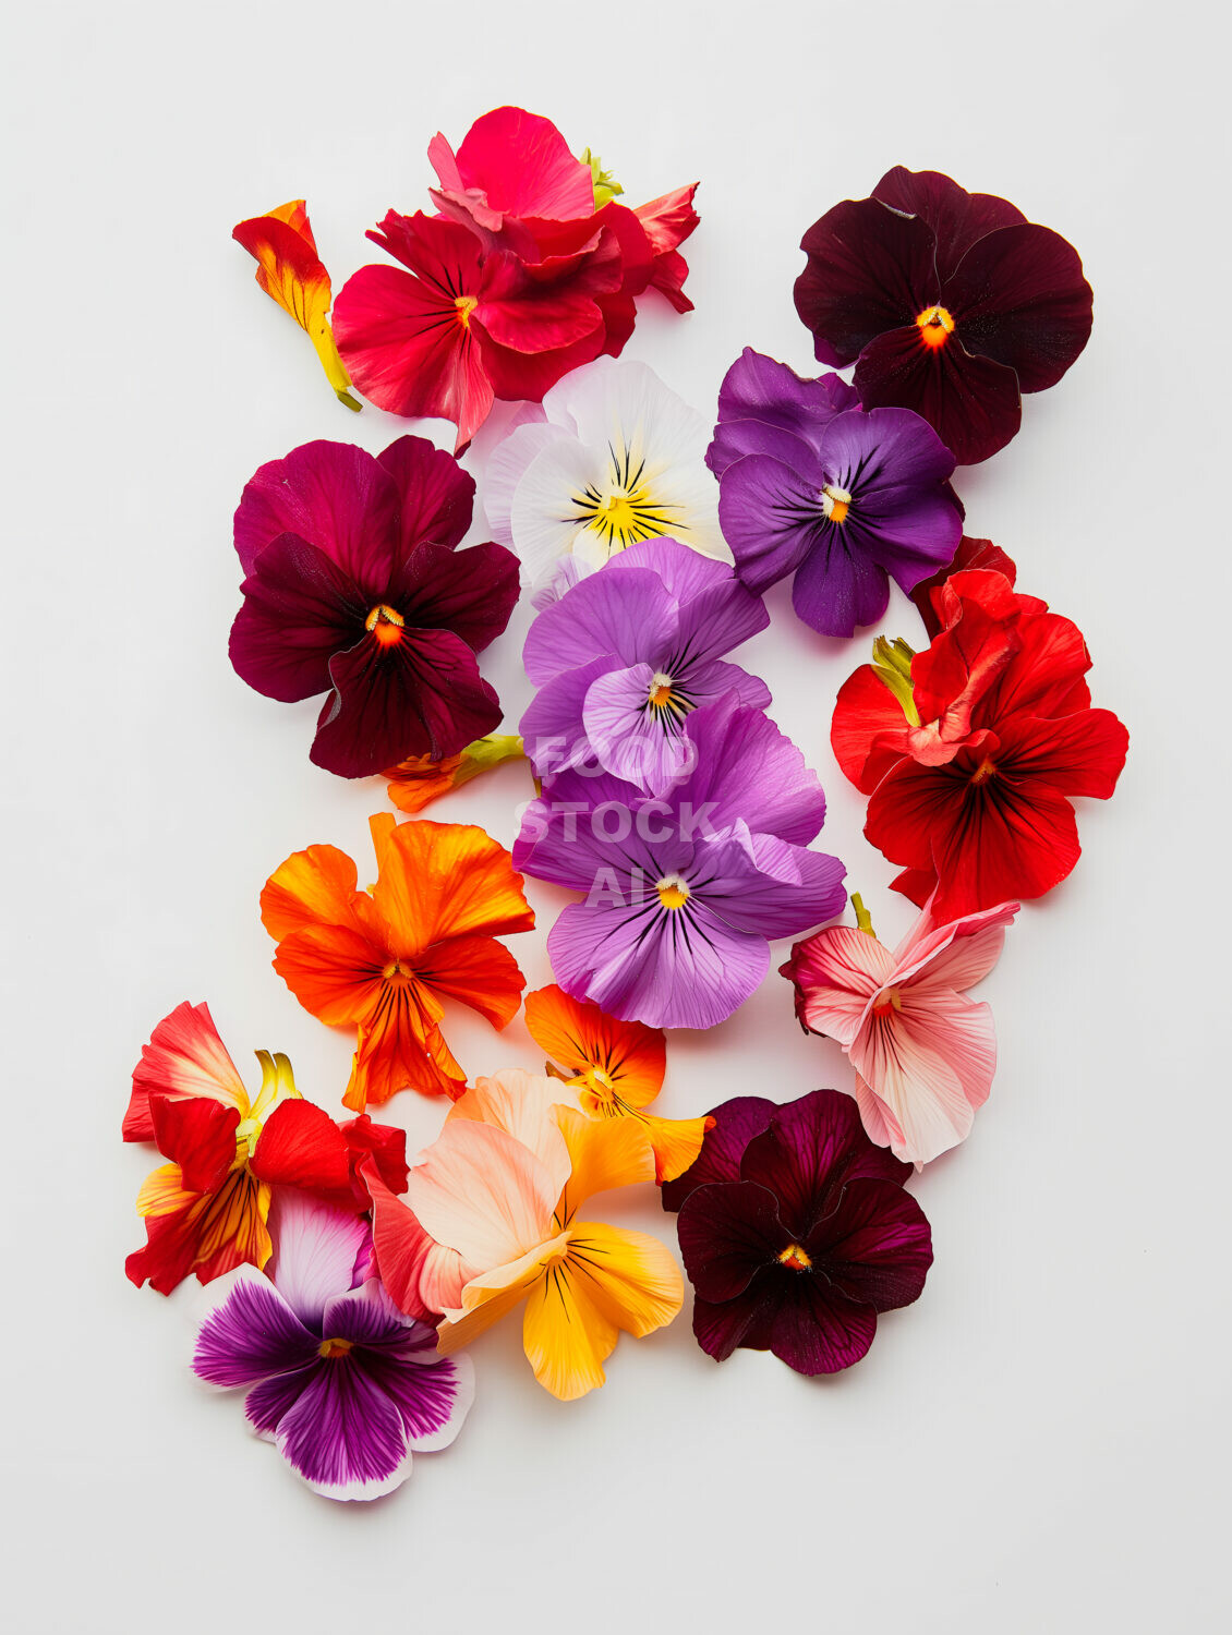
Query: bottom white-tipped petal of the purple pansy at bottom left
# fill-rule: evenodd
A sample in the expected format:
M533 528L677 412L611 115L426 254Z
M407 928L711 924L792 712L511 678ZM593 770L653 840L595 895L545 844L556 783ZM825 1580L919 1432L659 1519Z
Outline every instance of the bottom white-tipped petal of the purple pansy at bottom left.
M317 1362L277 1437L291 1468L330 1499L375 1499L411 1470L401 1409L355 1352Z

